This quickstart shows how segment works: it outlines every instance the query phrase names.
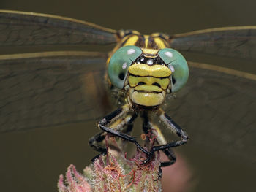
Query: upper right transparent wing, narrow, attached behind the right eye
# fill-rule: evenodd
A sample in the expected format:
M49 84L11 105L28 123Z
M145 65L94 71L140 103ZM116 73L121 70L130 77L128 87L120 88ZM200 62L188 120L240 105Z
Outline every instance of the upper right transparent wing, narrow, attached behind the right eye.
M256 26L211 28L170 36L170 47L230 58L256 59Z

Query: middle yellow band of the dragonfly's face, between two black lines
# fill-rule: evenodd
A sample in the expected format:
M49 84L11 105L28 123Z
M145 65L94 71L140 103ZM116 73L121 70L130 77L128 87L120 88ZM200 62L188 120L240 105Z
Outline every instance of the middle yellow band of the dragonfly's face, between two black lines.
M167 88L167 86L169 85L169 82L170 82L169 77L164 78L164 79L159 79L157 77L135 77L132 75L129 75L128 81L129 81L129 85L132 88L134 88L136 85L138 85L139 82L145 82L146 85L151 85L151 86L156 86L153 84L158 83L163 90L165 90ZM159 88L159 87L157 87L157 88Z

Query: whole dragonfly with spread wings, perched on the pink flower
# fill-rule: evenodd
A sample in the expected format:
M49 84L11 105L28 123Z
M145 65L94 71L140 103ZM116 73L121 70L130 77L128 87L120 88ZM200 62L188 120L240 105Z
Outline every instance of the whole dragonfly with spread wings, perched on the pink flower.
M183 86L184 88L176 93L176 98L166 99L168 96L163 93L163 99L159 103L141 104L140 101L143 102L143 99L139 97L140 101L136 104L136 99L132 100L130 96L125 95L128 104L125 105L126 108L123 107L105 116L99 121L99 128L132 141L140 150L143 150L143 147L129 136L131 130L124 136L121 132L106 127L104 123L116 118L116 113L123 112L124 108L137 110L136 106L142 105L144 107L139 107L139 110L144 111L142 115L144 125L146 124L144 128L148 126L157 128L152 126L147 115L148 111L154 111L163 118L164 122L168 121L165 124L181 137L178 144L172 142L170 146L159 132L158 142L164 147L156 146L152 151L143 150L149 156L146 162L151 159L154 151L165 150L165 154L170 158L167 164L172 164L175 156L168 150L169 147L187 142L185 131L182 131L167 114L176 122L181 122L182 127L187 128L192 133L191 137L200 145L214 146L222 153L231 153L249 161L255 161L256 91L252 89L256 85L255 74L188 61L189 80L187 82L188 74L181 75L186 73L186 70L179 71L176 64L172 63L173 61L168 61L168 55L179 56L180 53L177 51L255 60L255 31L256 26L239 26L212 28L184 34L142 35L138 31L116 31L72 18L1 10L0 46L2 47L27 45L115 45L116 47L110 53L51 51L0 55L0 131L7 133L47 128L100 118L112 107L107 101L106 83L110 82L117 90L122 90L124 85L132 83L125 82L128 81L126 78L128 72L123 68L128 69L128 65L135 66L132 65L135 62L152 68L157 66L154 63L158 62L159 66L169 69L169 74L166 76L169 78L169 84L161 88L162 82L153 82L154 88L164 90L168 95L169 92L170 94L176 92L176 85L181 82L182 85L177 88L177 91ZM129 49L121 50L122 47ZM130 51L132 54L135 53L135 56L127 58L127 66L121 66L121 69L118 69L121 73L113 72L112 74L117 76L110 77L106 82L106 64L110 66L112 58L116 54L121 54L122 51ZM186 62L182 55L181 60ZM172 64L168 66L169 63ZM135 69L134 72L138 70L143 71ZM110 73L108 69L108 74ZM128 76L143 75L129 72ZM116 82L115 78L119 80ZM162 79L164 77L158 76L157 80ZM185 82L187 85L184 85ZM143 83L140 88L145 88L149 82ZM128 87L125 89L129 90ZM161 108L158 106L161 106L165 112L159 110ZM135 113L135 115L138 114ZM135 116L129 117L129 120L135 118ZM127 119L121 122L124 123L124 120ZM131 123L128 122L129 120L126 123ZM93 137L91 141L102 140L101 136L102 133ZM91 146L102 153L105 151L95 144Z

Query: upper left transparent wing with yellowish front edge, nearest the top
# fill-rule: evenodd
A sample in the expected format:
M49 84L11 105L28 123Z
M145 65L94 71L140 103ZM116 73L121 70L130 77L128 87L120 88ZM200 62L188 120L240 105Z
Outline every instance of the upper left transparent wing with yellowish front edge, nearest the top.
M116 31L82 20L0 10L0 45L110 44Z

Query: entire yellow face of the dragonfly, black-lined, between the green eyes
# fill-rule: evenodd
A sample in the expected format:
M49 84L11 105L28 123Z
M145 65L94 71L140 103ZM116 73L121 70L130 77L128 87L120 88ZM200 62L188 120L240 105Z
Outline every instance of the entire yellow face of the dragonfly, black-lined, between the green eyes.
M129 66L128 72L128 93L133 103L148 107L162 104L170 83L171 71L167 66L133 64ZM140 85L140 82L145 84Z

